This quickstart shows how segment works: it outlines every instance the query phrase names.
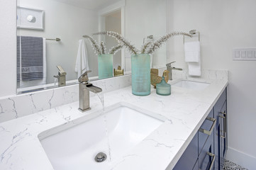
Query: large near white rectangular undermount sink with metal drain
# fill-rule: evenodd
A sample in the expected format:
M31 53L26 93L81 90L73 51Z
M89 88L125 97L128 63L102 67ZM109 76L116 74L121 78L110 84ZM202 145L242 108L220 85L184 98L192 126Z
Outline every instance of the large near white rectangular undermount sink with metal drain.
M38 135L54 169L111 169L165 121L130 106L106 110L79 125L69 122ZM94 160L99 152L106 154L104 162Z

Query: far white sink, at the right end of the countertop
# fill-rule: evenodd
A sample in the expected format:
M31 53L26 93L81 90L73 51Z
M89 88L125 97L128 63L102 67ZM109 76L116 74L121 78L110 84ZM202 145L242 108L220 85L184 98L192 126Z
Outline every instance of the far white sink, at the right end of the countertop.
M201 82L189 81L189 80L182 80L175 84L172 84L172 86L179 86L185 89L192 89L192 90L204 90L209 85L210 84L208 83L201 83Z

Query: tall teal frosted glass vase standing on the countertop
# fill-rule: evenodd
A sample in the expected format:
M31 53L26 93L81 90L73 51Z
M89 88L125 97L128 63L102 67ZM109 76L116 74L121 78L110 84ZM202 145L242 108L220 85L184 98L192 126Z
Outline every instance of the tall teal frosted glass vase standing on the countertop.
M132 91L136 96L150 95L150 55L131 56Z

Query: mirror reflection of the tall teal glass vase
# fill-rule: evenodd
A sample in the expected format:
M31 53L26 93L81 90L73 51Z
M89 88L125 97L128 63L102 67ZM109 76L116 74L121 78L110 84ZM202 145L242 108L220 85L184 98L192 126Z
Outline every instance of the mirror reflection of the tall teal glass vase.
M113 77L113 55L98 55L99 79Z

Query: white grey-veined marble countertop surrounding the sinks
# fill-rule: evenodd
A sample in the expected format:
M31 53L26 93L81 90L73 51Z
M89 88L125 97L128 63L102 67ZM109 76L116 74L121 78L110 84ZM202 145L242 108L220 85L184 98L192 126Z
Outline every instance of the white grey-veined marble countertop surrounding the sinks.
M171 96L159 96L153 88L149 96L134 96L130 86L104 94L105 107L126 103L166 118L112 169L172 169L227 85L223 79L211 80L202 91L172 86ZM90 100L91 111L85 113L74 102L1 123L0 169L53 169L38 135L102 109L97 96Z

